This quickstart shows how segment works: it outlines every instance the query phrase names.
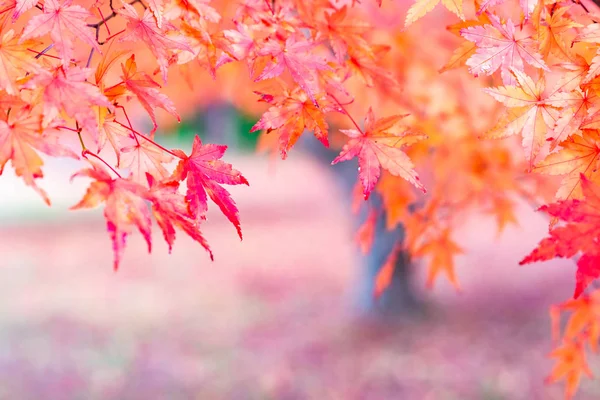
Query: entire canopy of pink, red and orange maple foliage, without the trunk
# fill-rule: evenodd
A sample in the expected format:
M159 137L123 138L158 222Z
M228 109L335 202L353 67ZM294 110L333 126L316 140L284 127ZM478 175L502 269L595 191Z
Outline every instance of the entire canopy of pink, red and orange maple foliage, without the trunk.
M103 205L115 269L135 228L151 249L152 217L169 249L177 228L212 258L208 199L242 238L222 185L249 182L226 146L196 137L187 155L155 133L226 100L283 159L308 131L339 150L332 164L358 160L357 204L383 200L361 248L380 212L406 230L375 296L399 251L428 260L428 285L458 288L465 215L501 232L518 199L546 204L549 237L522 263L577 264L574 299L552 311L571 316L549 377L571 397L600 339L600 9L584 1L0 0L0 174L10 162L50 204L42 154L88 164L73 208Z

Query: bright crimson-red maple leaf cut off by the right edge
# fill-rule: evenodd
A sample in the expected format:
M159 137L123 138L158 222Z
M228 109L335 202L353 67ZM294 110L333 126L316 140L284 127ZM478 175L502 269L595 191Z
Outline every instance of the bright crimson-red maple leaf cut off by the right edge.
M581 252L575 276L575 298L600 277L600 186L582 175L581 187L583 200L562 200L540 207L540 211L566 222L566 225L551 228L550 236L520 262L523 265L556 257L571 258Z

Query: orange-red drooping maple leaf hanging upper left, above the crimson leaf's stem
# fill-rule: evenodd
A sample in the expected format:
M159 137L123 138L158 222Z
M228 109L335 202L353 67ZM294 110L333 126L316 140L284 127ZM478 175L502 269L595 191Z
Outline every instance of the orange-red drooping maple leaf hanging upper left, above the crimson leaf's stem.
M105 94L109 97L116 97L124 94L123 89L132 93L152 120L153 128L150 136L152 136L158 128L156 115L154 114L156 108L162 108L169 114L175 116L177 121L181 121L181 117L175 110L175 104L173 104L165 94L158 90L161 86L145 72L138 72L135 54L132 54L125 64L121 64L121 69L123 71L123 75L121 75L122 83L106 90Z

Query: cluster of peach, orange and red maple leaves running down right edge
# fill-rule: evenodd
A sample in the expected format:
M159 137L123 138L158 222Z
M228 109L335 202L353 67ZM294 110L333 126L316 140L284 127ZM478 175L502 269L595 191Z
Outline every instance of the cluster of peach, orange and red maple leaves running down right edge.
M463 42L448 66L464 66L475 77L491 78L483 91L504 111L483 137L516 136L528 171L562 176L556 202L540 208L549 216L549 237L521 264L573 259L578 298L600 277L600 20L597 8L590 10L579 2L521 1L517 17L510 5L515 3L475 1L474 18L449 27ZM407 23L413 19L407 17ZM577 300L566 307L575 304ZM599 315L587 315L592 344L598 340L594 327ZM558 364L549 380L565 379L567 397L575 394L582 372L591 375L584 346L575 341L584 328L573 326L583 324L579 317L572 317L565 342L552 354Z

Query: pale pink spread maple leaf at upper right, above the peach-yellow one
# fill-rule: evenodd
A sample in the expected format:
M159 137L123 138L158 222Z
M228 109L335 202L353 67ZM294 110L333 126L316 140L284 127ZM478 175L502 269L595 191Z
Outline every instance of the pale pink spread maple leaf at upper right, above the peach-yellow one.
M490 14L488 17L491 24L472 26L460 31L465 39L477 45L475 54L466 62L474 76L492 75L500 69L504 84L513 85L515 79L511 69L523 71L524 63L550 70L527 32L517 30L510 19L502 24L497 16Z

